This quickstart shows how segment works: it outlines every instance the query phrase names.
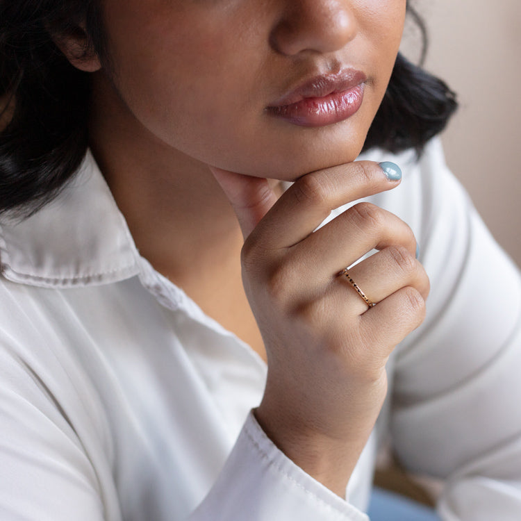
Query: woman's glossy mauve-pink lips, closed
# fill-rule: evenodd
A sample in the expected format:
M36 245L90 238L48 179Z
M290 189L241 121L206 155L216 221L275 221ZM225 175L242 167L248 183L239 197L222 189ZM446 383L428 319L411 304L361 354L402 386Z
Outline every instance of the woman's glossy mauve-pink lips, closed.
M267 111L299 126L338 123L361 107L365 81L365 74L354 69L315 76L268 106Z

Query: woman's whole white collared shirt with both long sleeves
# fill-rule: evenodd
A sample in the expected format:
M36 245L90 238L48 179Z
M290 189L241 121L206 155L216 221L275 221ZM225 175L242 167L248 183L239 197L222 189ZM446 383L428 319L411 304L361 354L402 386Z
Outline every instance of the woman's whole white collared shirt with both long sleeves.
M413 228L432 288L346 501L265 436L249 413L265 364L140 256L88 154L0 229L0 519L363 521L390 431L407 468L445 480L444 520L519 521L518 271L438 140L419 162L368 156L402 166L370 200Z

